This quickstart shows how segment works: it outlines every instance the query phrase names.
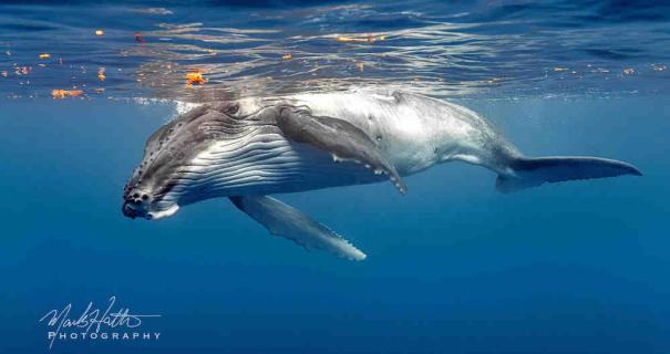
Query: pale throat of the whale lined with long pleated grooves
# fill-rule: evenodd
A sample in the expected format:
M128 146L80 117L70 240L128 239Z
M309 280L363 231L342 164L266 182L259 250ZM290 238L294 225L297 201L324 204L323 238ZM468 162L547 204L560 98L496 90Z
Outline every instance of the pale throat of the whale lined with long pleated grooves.
M179 170L164 200L179 205L214 197L295 192L386 180L364 166L287 140L271 126L217 140Z

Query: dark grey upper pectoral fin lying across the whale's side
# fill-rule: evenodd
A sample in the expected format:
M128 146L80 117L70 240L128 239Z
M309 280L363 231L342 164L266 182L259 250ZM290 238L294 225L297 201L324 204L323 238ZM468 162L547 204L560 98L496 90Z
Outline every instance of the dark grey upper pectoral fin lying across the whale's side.
M372 168L375 174L389 175L398 190L406 194L408 186L393 164L363 131L351 123L284 106L277 116L277 125L288 139L327 150L336 162L354 160Z

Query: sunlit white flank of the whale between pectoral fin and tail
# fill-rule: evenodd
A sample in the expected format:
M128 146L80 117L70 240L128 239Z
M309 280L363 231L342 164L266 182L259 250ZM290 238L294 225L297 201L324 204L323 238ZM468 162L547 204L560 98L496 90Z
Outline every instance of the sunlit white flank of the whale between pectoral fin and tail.
M348 93L293 96L315 115L346 119L378 142L400 175L437 163L463 160L505 171L518 155L476 113L431 97L403 93Z

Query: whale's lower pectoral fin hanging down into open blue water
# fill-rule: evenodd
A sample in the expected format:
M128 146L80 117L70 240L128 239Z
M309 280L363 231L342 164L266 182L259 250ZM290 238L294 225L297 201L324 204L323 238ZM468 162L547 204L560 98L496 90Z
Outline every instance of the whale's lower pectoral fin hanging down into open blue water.
M341 236L300 210L267 196L230 197L230 201L270 233L285 237L306 249L320 249L350 260L363 260L365 253Z

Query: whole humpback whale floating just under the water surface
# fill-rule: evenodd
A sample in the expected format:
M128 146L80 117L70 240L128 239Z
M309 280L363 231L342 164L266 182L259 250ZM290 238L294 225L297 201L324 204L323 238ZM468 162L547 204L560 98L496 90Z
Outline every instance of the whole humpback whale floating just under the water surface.
M227 197L272 235L362 260L365 254L344 238L270 195L384 180L405 194L404 176L446 162L486 167L505 194L641 175L614 159L525 156L475 112L419 94L249 97L199 105L156 131L125 186L122 211L159 219Z

